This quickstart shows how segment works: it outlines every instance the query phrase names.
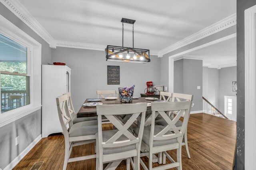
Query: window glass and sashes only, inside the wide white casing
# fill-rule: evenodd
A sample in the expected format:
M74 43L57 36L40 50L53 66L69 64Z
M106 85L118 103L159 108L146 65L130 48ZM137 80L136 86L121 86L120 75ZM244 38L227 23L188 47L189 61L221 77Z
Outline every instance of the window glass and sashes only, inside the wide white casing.
M1 113L30 104L28 48L0 34Z

